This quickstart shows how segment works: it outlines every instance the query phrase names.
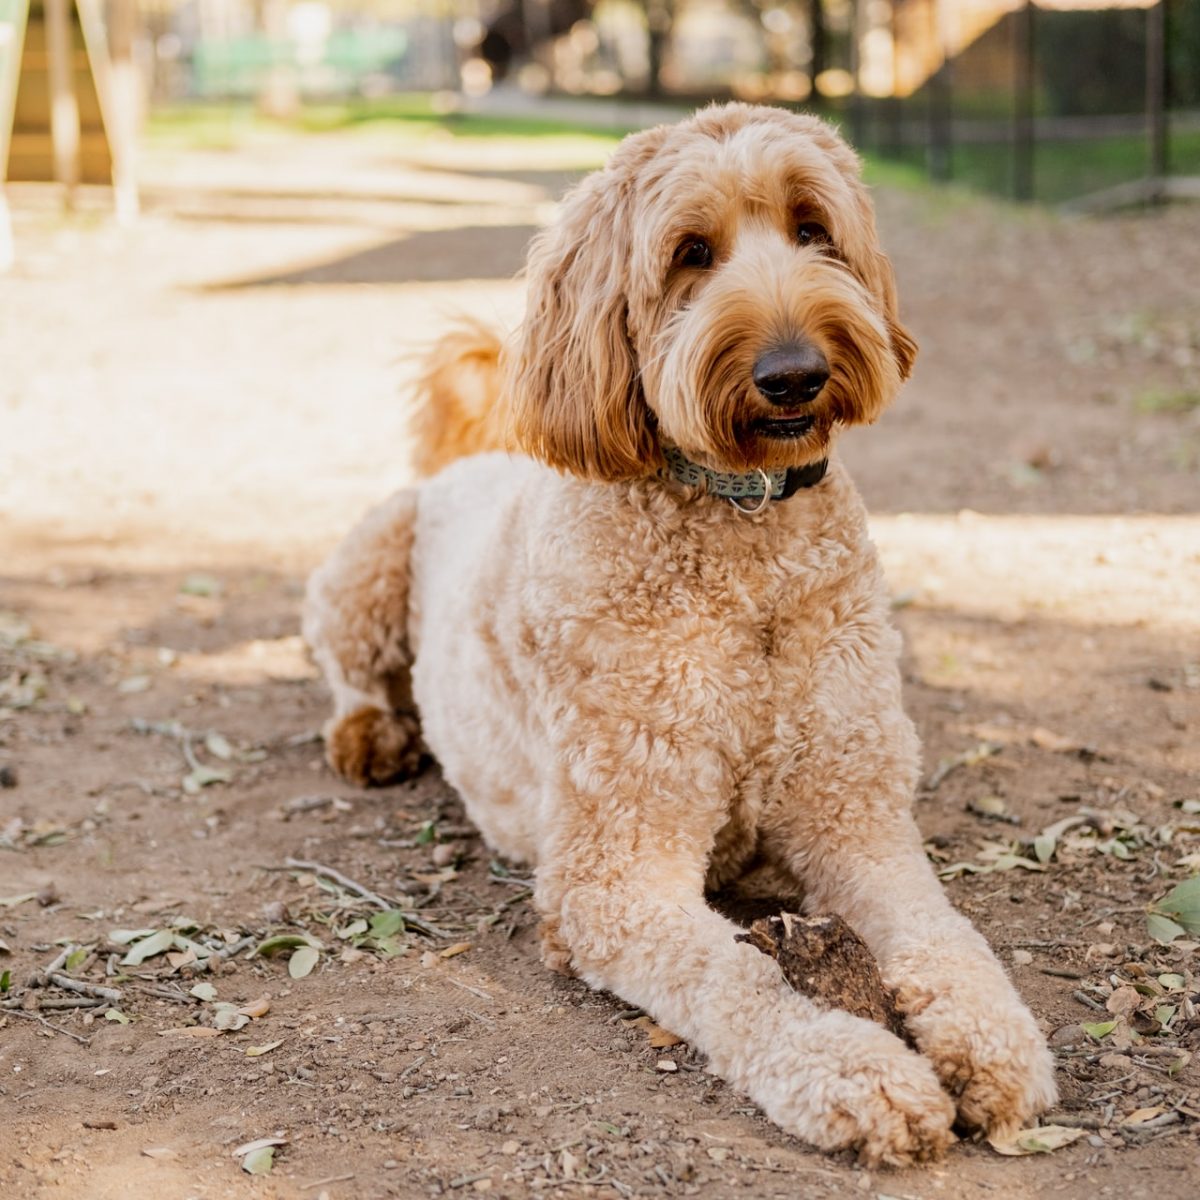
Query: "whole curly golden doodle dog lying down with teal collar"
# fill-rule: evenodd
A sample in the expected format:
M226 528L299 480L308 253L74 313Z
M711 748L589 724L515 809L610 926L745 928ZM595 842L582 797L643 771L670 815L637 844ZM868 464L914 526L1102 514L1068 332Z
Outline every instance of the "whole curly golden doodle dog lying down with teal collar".
M629 137L534 240L512 344L436 354L420 455L450 466L349 534L305 622L332 766L380 782L436 756L535 865L547 965L784 1129L894 1164L1055 1097L922 848L900 638L834 452L914 353L828 125L727 104ZM762 864L862 935L917 1049L736 940L706 893Z

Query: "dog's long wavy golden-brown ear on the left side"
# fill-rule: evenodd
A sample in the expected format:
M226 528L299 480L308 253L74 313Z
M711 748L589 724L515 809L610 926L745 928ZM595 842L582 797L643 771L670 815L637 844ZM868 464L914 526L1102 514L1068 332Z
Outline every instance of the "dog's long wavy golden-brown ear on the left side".
M528 300L509 362L512 432L527 454L589 479L655 470L626 299L634 168L658 140L628 139L563 202L529 247Z

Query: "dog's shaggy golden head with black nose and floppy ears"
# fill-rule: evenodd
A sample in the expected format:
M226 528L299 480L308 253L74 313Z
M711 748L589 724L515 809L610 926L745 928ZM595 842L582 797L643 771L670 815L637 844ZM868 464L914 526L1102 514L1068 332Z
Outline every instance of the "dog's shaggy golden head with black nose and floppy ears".
M780 109L626 138L528 274L515 432L589 478L654 472L662 442L724 470L815 462L875 420L916 353L858 160Z

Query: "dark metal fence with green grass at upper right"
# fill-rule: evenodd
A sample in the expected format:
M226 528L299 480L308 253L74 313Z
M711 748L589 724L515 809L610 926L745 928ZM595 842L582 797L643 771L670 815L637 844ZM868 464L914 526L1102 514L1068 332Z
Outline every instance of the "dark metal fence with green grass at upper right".
M864 150L1018 200L1200 198L1200 5L1100 2L1020 4L907 94L856 89L839 115ZM950 46L949 7L898 0L898 56Z

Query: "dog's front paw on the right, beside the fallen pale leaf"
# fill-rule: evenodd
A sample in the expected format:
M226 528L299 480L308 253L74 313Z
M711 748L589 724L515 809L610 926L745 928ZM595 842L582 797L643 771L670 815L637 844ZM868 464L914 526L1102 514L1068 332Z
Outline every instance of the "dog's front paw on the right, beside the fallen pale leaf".
M949 986L917 1000L901 991L901 1007L964 1123L1004 1134L1050 1108L1057 1088L1054 1055L1033 1015L1007 978L991 983L976 992Z

